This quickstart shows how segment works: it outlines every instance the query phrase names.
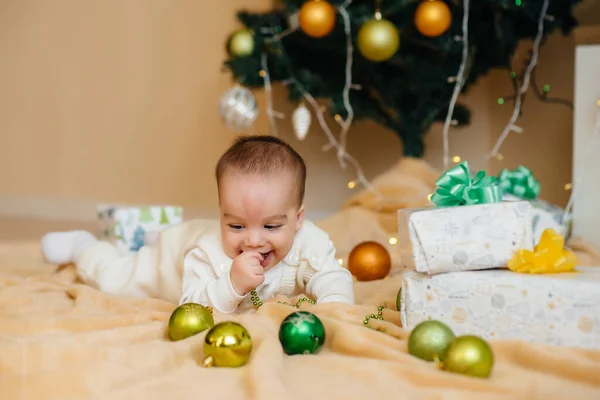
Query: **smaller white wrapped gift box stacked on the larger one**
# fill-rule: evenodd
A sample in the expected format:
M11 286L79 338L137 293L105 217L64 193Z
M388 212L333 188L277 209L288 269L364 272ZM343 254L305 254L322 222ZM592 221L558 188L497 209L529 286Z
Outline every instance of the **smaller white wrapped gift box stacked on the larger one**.
M402 263L418 272L501 268L533 248L527 201L398 210Z

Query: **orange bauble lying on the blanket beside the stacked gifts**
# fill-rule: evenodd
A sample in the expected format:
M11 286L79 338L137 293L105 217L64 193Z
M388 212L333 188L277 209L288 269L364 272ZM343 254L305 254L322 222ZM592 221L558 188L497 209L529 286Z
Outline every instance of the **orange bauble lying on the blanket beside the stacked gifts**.
M390 253L377 242L359 243L348 256L348 270L359 281L383 279L391 268Z

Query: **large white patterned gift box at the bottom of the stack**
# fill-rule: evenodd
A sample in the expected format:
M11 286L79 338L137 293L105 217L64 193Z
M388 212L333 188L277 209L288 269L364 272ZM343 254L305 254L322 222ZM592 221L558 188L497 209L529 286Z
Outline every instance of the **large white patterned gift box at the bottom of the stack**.
M600 268L574 273L510 270L404 274L402 326L439 320L455 334L600 348Z

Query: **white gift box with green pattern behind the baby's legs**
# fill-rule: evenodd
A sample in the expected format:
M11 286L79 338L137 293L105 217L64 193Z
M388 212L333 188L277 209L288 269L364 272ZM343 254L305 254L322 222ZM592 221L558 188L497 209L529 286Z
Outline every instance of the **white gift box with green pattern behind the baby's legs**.
M158 233L183 222L183 209L178 206L100 205L99 237L114 243L120 253L136 252L152 244Z

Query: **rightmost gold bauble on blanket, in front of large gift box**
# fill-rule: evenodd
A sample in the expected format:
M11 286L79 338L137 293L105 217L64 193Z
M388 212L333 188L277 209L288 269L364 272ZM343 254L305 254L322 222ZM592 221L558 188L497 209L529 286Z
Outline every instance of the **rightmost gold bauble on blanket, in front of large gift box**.
M446 351L446 371L487 378L494 367L494 353L489 344L480 337L465 335L456 338Z

